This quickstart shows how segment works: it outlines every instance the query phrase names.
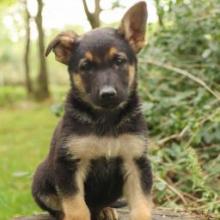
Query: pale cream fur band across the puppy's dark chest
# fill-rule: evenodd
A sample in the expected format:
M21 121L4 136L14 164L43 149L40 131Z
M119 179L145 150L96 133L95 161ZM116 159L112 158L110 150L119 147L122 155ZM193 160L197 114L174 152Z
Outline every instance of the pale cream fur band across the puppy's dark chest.
M68 153L74 159L96 159L99 157L133 159L146 150L144 136L123 134L118 137L95 135L72 136L67 141Z

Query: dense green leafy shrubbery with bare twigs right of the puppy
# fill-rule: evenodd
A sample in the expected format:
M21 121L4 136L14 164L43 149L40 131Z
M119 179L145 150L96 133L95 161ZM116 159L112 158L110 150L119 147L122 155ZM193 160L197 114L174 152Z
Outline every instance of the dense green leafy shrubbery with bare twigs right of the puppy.
M155 202L219 214L220 4L178 2L140 55Z

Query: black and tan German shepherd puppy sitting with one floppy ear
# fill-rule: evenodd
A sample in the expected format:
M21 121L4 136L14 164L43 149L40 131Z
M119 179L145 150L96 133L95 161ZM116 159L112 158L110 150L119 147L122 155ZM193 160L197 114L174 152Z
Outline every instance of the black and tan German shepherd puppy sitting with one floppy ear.
M139 2L118 29L62 32L47 48L67 65L71 81L64 116L33 179L33 197L51 218L118 219L109 207L124 196L131 220L151 219L152 174L136 90L146 19Z

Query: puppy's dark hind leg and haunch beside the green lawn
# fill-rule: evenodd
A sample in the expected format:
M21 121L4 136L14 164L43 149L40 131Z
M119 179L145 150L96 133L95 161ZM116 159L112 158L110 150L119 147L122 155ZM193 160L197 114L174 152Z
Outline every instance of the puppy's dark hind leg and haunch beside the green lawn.
M40 164L34 175L32 195L36 203L55 219L61 220L63 218L60 199L52 184L52 178L45 162Z

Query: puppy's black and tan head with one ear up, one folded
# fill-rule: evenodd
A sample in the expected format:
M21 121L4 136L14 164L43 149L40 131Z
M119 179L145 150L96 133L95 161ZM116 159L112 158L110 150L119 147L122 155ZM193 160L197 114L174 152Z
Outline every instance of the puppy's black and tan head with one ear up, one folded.
M118 29L99 28L82 36L60 33L48 46L68 66L73 88L96 108L116 108L136 87L136 53L144 46L145 2L131 7Z

